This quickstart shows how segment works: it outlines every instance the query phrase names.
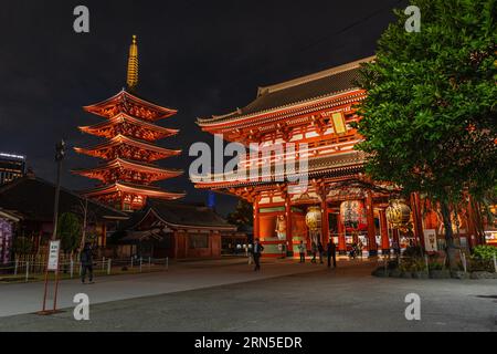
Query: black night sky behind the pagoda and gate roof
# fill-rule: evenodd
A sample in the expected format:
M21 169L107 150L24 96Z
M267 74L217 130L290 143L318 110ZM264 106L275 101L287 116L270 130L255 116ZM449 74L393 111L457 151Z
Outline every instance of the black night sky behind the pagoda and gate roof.
M75 33L73 9L89 9L89 33ZM181 157L159 162L182 168L183 177L159 185L204 201L188 179L194 142L212 142L197 117L231 112L255 98L257 86L325 70L374 53L406 1L40 1L3 0L0 11L0 152L28 156L42 178L55 179L54 144L68 153L63 186L91 187L94 180L71 168L95 166L73 146L98 138L78 125L102 121L82 106L108 98L126 82L131 34L138 35L138 94L179 110L160 125L179 128L160 140L182 148ZM218 210L234 205L218 197Z

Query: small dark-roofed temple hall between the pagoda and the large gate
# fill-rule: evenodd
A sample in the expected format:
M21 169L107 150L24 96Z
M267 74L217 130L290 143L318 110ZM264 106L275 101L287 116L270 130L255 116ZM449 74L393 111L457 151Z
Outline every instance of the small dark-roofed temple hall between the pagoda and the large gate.
M149 199L116 232L119 257L219 258L223 239L240 238L236 227L211 208Z

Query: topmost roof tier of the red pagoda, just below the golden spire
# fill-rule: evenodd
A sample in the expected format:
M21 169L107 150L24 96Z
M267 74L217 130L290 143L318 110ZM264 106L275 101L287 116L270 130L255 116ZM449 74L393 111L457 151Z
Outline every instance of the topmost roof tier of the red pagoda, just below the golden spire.
M148 122L156 122L178 113L177 110L162 107L145 101L138 97L136 93L131 94L125 88L110 98L84 106L83 110L106 118L113 118L119 113L126 113Z

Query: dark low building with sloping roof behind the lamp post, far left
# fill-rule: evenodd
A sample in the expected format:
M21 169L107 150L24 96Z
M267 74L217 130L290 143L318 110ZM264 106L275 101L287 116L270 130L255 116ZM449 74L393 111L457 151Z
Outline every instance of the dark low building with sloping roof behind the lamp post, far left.
M32 253L45 251L53 232L55 185L30 173L0 187L0 242L2 259L12 259L10 250L17 237L27 238ZM99 249L105 248L107 236L129 216L123 211L85 199L61 188L59 215L70 212L83 220L86 209L87 233L95 237Z

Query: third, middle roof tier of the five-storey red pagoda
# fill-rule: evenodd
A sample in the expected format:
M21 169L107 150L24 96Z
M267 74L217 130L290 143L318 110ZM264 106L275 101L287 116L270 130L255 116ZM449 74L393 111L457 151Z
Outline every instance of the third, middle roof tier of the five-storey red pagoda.
M104 159L119 156L144 162L155 162L181 154L181 150L167 149L121 134L93 147L75 147L74 149L80 154Z

